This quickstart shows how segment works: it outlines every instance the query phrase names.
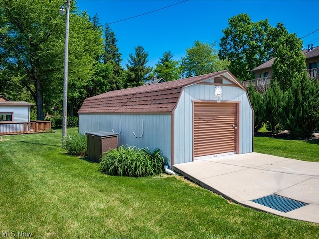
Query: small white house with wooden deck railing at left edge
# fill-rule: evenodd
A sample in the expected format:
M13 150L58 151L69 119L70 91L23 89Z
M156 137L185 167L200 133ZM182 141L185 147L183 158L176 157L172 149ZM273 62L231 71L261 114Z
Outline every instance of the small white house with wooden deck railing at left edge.
M31 121L32 103L10 101L0 95L0 134L45 132L51 128L50 121Z

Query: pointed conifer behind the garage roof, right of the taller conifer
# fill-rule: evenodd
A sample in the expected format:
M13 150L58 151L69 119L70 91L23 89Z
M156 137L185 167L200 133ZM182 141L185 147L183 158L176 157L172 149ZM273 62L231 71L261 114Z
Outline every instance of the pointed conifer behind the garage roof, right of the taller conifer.
M136 87L143 84L143 81L152 78L150 74L152 67L146 66L149 62L148 53L144 51L142 46L134 47L135 55L129 54L130 59L127 67L127 87Z

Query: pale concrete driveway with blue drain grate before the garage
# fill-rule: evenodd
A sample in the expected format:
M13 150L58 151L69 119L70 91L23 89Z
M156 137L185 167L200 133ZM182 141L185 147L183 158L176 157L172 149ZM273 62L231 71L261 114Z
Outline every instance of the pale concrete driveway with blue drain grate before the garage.
M244 206L319 223L319 163L247 153L176 164L173 170ZM276 203L279 199L280 206L295 202L305 206L284 212L269 204L269 195ZM260 204L260 198L267 206Z

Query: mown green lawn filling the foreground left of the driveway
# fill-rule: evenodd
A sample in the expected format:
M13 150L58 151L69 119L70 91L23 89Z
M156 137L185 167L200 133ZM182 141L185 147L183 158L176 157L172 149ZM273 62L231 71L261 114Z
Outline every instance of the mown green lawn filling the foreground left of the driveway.
M180 176L101 174L98 164L67 155L61 142L61 130L2 137L1 232L40 239L319 238L318 224L229 203Z

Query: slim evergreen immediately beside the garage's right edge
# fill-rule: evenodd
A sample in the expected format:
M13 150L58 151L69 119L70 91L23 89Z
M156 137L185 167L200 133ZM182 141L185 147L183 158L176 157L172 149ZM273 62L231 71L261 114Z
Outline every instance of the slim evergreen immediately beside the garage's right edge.
M250 102L254 108L254 132L257 132L263 126L263 97L255 90L253 84L248 87Z

